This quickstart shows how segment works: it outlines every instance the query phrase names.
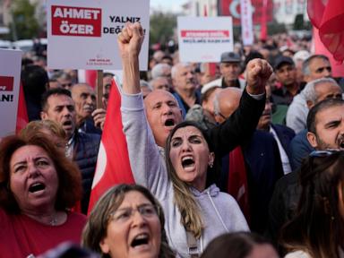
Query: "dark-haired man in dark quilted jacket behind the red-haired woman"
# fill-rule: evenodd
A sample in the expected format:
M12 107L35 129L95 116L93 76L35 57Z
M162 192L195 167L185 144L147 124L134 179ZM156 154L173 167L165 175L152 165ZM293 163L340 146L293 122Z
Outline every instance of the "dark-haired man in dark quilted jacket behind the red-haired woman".
M71 92L62 88L47 90L42 99L42 120L49 119L61 125L66 134L66 156L73 159L82 172L82 213L87 212L90 189L96 169L99 134L76 130L76 115Z

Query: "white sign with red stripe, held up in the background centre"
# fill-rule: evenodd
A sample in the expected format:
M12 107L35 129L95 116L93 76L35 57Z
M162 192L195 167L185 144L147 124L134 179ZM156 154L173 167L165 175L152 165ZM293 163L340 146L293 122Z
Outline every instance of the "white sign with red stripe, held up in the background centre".
M223 52L233 51L232 17L178 17L181 62L219 62Z

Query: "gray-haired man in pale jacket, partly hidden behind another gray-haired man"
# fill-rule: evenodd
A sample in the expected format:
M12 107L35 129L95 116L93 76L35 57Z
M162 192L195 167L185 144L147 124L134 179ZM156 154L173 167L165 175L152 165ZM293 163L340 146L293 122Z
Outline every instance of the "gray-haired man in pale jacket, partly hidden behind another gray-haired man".
M329 58L323 55L313 55L305 59L302 65L305 82L312 82L323 77L331 77L331 64ZM295 133L305 129L305 120L308 114L308 107L305 101L305 94L301 91L288 107L286 122Z

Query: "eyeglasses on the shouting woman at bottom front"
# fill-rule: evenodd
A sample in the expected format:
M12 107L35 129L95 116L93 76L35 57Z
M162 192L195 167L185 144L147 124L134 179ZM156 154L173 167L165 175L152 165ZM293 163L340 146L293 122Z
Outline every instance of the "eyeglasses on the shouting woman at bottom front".
M110 214L110 219L115 222L125 222L133 217L134 211L138 211L142 217L150 219L158 215L157 209L152 204L142 204L136 209L133 208L124 208L114 211Z

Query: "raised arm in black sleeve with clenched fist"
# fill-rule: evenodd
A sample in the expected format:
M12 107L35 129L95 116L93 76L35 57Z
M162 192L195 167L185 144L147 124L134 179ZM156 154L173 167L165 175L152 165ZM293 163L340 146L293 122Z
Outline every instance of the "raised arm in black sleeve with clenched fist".
M247 64L246 71L247 85L239 107L226 122L210 131L218 158L251 137L265 106L265 84L272 73L271 65L254 59Z

